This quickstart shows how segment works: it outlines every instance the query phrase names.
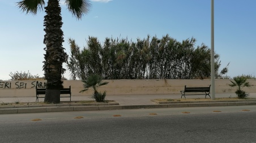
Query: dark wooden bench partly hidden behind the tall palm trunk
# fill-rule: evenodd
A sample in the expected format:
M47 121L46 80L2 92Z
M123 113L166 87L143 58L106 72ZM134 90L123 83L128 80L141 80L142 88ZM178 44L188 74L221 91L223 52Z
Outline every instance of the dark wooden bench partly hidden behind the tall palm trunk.
M45 95L45 88L37 88L36 86L36 101L39 101L39 98L45 98L45 96L39 96L39 95ZM66 96L61 96L62 97L69 97L71 101L71 86L69 88L62 88L61 89L61 94L66 94ZM69 96L67 96L69 94Z

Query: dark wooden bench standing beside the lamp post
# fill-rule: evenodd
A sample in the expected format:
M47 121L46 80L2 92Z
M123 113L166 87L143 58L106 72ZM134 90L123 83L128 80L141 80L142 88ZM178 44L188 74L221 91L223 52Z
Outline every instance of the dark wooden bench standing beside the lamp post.
M211 96L209 95L210 88L211 88L211 85L209 87L195 87L195 88L187 88L185 85L184 90L181 90L181 98L182 98L182 96L185 97L185 93L188 93L188 92L193 92L193 94L186 94L186 95L205 95L205 96L209 96L211 98ZM204 92L204 94L202 94L200 92Z

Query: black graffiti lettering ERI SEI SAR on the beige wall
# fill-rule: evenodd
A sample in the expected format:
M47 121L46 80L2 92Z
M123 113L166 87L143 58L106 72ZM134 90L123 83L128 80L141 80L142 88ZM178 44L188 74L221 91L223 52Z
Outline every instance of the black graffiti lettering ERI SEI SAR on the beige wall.
M45 81L0 81L0 89L45 88Z

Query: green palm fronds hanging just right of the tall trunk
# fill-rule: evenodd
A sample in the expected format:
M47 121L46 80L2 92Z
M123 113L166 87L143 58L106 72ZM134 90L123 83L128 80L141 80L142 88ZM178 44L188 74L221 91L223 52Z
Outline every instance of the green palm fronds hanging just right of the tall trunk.
M88 0L66 0L67 9L74 15L77 19L82 19L84 14L88 14L91 3Z

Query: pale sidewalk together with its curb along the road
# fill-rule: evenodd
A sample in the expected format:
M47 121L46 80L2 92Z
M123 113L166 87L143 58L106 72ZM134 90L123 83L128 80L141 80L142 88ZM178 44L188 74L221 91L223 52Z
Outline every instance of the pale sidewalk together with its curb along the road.
M234 93L216 93L215 98L237 97ZM147 109L147 108L167 108L167 107L206 107L206 106L238 106L238 105L256 105L256 102L215 102L215 103L176 103L159 105L152 102L151 99L180 99L181 94L138 94L138 95L107 95L106 100L114 100L119 105L93 105L84 106L82 104L62 104L45 106L10 106L1 107L0 114L29 113L29 112L54 112L54 111L88 111L88 110L120 110L120 109ZM204 98L203 95L186 96L186 98ZM256 93L250 93L249 98L256 99ZM94 100L90 96L72 96L71 101L90 101ZM15 102L35 102L36 97L2 97L0 103ZM40 98L39 102L44 101ZM61 101L69 101L69 98L61 98Z

